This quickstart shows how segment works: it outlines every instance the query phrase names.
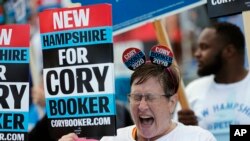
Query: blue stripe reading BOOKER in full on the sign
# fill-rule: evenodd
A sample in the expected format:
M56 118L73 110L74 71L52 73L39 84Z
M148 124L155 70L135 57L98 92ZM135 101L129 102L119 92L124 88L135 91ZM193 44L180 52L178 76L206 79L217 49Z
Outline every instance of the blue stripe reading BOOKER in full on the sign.
M115 115L115 95L87 95L47 98L48 118Z

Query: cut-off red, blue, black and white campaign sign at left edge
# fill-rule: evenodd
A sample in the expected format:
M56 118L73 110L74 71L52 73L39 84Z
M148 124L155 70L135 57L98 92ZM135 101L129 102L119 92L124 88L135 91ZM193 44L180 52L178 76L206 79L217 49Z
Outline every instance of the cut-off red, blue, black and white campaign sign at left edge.
M29 25L0 26L1 141L28 139L29 35Z

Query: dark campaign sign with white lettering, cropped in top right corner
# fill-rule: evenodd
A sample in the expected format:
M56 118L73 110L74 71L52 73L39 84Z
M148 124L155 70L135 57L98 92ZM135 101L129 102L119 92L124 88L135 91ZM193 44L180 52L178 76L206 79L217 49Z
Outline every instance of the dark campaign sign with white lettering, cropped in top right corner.
M250 0L208 0L210 18L241 13L250 9Z

